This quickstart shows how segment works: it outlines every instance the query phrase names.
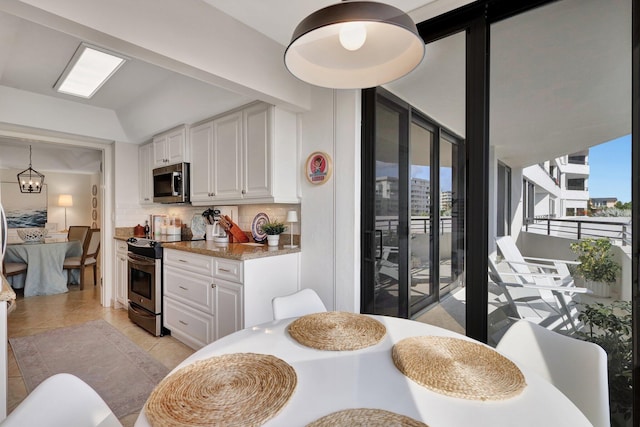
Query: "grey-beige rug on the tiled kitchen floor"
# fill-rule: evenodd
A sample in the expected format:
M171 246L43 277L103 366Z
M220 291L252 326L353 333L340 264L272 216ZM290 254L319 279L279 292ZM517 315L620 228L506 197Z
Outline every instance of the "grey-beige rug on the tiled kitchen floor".
M9 339L27 391L57 373L89 384L118 418L142 409L169 369L104 320Z

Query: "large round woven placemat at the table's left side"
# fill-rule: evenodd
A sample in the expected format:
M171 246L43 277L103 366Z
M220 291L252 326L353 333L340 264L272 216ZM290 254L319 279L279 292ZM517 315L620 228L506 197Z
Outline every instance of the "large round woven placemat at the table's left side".
M153 426L259 426L287 404L296 383L294 369L277 357L226 354L166 377L144 410Z

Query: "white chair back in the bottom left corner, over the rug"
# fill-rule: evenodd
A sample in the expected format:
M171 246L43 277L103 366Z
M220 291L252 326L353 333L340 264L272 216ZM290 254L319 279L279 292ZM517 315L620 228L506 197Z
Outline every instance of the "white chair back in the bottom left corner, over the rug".
M44 380L0 423L2 427L122 427L100 395L80 378Z

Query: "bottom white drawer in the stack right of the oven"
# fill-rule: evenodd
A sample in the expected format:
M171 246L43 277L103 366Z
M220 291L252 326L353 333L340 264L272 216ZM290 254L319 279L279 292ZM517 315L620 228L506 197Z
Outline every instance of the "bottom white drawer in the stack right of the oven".
M204 347L215 340L212 315L167 297L164 298L164 326L172 335L193 348Z

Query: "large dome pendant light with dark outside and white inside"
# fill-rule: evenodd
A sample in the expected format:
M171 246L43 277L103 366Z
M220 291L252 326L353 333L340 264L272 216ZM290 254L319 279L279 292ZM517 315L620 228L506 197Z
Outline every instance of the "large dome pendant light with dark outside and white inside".
M343 1L303 19L284 54L299 79L334 89L379 86L411 72L424 41L400 9L372 1Z

